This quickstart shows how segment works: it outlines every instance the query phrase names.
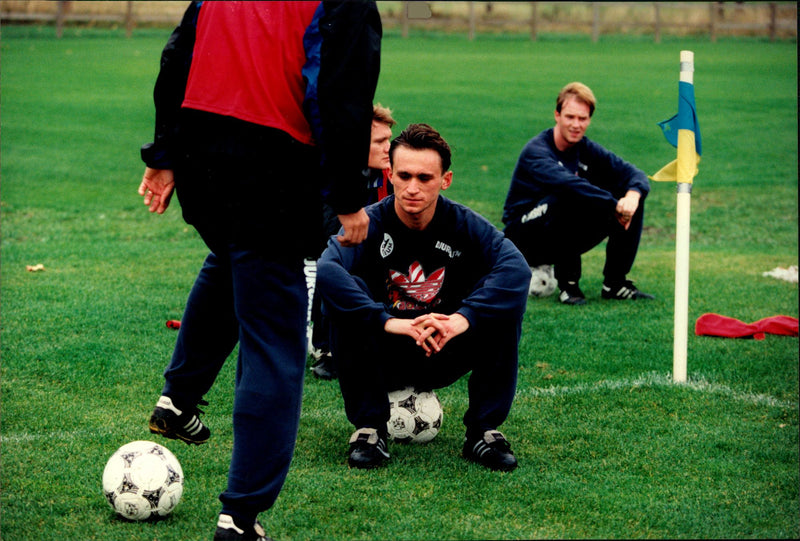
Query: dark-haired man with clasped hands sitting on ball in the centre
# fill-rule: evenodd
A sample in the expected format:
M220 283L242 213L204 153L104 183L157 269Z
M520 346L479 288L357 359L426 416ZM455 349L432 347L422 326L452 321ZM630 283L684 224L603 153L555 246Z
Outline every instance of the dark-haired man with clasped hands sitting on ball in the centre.
M468 372L463 456L501 471L517 460L497 428L517 382L530 271L485 218L440 195L453 179L450 148L427 124L411 124L390 149L394 195L368 207L359 246L331 239L319 291L348 420L348 463L388 458L388 393L446 387Z

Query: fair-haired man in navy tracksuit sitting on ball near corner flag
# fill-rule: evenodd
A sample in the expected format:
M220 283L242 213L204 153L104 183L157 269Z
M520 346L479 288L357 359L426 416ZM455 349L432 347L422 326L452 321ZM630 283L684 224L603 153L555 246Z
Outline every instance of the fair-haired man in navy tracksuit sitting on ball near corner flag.
M585 304L578 282L581 255L606 237L604 299L652 299L627 275L644 219L647 176L584 137L595 109L582 83L556 100L554 128L531 139L520 154L503 211L505 234L534 269L554 265L564 304Z

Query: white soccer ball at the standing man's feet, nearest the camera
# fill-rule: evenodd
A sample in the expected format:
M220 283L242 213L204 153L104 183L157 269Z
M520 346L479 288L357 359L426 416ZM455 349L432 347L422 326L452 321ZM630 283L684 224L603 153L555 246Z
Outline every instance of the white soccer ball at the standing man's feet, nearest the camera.
M132 441L108 459L103 494L114 511L128 520L165 517L181 500L183 469L166 447Z

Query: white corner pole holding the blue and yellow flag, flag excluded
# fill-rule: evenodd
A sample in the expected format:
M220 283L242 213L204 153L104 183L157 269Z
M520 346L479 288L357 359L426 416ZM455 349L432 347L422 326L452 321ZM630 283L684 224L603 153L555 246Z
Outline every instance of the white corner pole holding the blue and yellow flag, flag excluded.
M681 51L680 80L694 84L694 53ZM679 138L680 139L680 138ZM694 152L694 148L691 149ZM678 162L681 162L681 145L678 145ZM681 178L678 167L678 201L675 231L675 328L673 331L672 379L686 381L688 329L689 329L689 232L692 209L692 177Z

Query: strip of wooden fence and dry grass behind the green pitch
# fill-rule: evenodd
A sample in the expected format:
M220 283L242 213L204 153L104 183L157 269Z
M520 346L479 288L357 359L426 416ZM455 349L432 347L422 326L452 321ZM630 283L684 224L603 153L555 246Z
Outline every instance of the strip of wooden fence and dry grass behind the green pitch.
M0 0L3 23L53 24L61 37L65 26L123 26L131 36L137 26L175 25L187 2L41 2ZM719 36L749 35L797 39L796 2L378 2L386 28L464 32L579 33L596 42L603 34L622 32Z

